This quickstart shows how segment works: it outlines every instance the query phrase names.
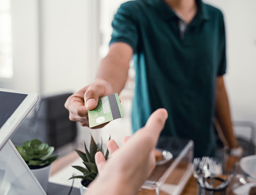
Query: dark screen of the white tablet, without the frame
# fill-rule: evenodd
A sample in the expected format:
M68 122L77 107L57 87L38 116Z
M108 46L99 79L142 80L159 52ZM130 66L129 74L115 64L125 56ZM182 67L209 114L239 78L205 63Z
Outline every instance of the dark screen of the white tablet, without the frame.
M0 130L26 97L27 94L0 91Z

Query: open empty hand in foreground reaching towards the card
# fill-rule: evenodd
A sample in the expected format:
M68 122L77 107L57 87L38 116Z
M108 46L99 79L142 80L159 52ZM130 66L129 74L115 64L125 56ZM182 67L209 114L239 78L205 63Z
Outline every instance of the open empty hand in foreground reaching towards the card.
M120 149L114 140L110 140L108 149L112 157L107 162L101 152L96 153L99 176L89 185L85 195L138 194L155 167L155 144L167 117L165 109L156 110L143 128L131 138L124 138Z

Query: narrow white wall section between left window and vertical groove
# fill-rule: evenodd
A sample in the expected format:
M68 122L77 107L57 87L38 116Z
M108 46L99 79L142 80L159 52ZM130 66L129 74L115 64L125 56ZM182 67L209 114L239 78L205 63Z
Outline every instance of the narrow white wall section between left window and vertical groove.
M37 0L11 0L11 7L14 72L12 79L1 80L1 87L39 92Z

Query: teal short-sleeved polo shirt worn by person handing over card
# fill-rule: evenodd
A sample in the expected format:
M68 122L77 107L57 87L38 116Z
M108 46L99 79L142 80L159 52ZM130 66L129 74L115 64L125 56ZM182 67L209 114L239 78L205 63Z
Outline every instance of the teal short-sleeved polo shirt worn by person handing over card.
M212 128L216 78L226 71L223 15L196 1L198 11L181 36L179 18L163 0L121 5L110 44L133 48L135 94L133 131L158 108L168 110L161 136L192 139L195 156L214 156Z

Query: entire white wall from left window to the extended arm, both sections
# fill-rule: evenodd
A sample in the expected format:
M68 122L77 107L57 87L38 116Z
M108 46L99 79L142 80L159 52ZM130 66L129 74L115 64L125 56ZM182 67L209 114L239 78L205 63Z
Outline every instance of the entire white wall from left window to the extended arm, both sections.
M1 79L2 88L46 96L93 81L99 0L11 0L11 7L14 76Z

